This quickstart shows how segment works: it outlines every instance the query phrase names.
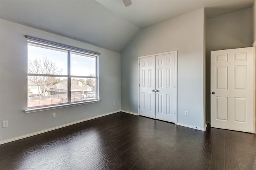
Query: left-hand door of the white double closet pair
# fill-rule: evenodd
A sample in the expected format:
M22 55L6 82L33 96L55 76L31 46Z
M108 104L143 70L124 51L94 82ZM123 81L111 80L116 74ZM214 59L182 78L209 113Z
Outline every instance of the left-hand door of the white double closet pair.
M155 119L155 56L139 59L139 113Z

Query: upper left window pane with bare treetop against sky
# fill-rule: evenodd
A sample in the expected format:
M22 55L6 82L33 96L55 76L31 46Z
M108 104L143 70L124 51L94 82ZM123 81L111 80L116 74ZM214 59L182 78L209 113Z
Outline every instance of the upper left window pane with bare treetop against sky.
M28 43L28 73L67 75L67 51Z

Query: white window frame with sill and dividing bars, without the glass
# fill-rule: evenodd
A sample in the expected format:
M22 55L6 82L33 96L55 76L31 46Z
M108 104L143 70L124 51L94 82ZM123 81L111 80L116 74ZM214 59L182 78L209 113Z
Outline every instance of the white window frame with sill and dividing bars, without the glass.
M39 39L36 37L30 37L28 35L25 36L26 38L28 38L28 44L37 44L40 46L44 46L46 48L51 48L51 49L63 49L65 51L67 51L67 59L68 59L68 73L67 75L55 75L55 74L32 74L32 73L28 73L28 76L54 76L54 77L66 77L68 79L68 102L66 103L61 103L61 104L51 104L51 105L45 105L45 106L36 106L36 107L28 107L28 102L27 102L27 108L24 110L25 113L31 113L31 112L35 112L35 111L43 111L43 110L49 110L49 109L55 109L55 108L60 108L60 107L69 107L69 106L75 106L75 105L82 105L82 104L90 104L90 103L95 103L95 102L99 102L99 77L98 77L98 58L100 53L98 52L94 52L94 51L89 51L89 50L85 50L85 49L80 49L80 48L76 48L76 47L72 47L72 46L68 46L68 45L64 45L64 44L60 44L60 43L55 43L52 41L47 41L44 39ZM87 55L88 57L95 57L96 58L96 75L95 76L72 76L70 74L70 54L71 53L80 53L82 55ZM27 76L27 78L28 78ZM81 100L81 101L75 101L75 102L71 102L71 78L95 78L96 79L96 99L92 99L92 100ZM27 84L27 89L28 89L28 84ZM28 101L28 98L27 98Z

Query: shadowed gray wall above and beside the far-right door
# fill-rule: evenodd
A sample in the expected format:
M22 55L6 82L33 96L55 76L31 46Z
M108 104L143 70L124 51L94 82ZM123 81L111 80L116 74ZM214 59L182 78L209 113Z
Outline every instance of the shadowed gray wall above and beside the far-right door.
M206 21L206 121L210 122L210 53L215 50L251 47L252 28L252 8Z

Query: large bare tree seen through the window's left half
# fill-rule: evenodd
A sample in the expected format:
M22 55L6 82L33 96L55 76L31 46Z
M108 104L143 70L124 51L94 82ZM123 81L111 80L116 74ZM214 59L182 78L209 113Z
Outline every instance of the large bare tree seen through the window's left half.
M42 61L37 58L32 61L28 60L28 73L43 74L43 76L29 76L29 80L38 86L38 93L40 96L44 96L47 93L50 85L60 82L59 78L44 75L61 74L61 72L62 69L58 70L56 63L53 63L47 57L43 57Z

